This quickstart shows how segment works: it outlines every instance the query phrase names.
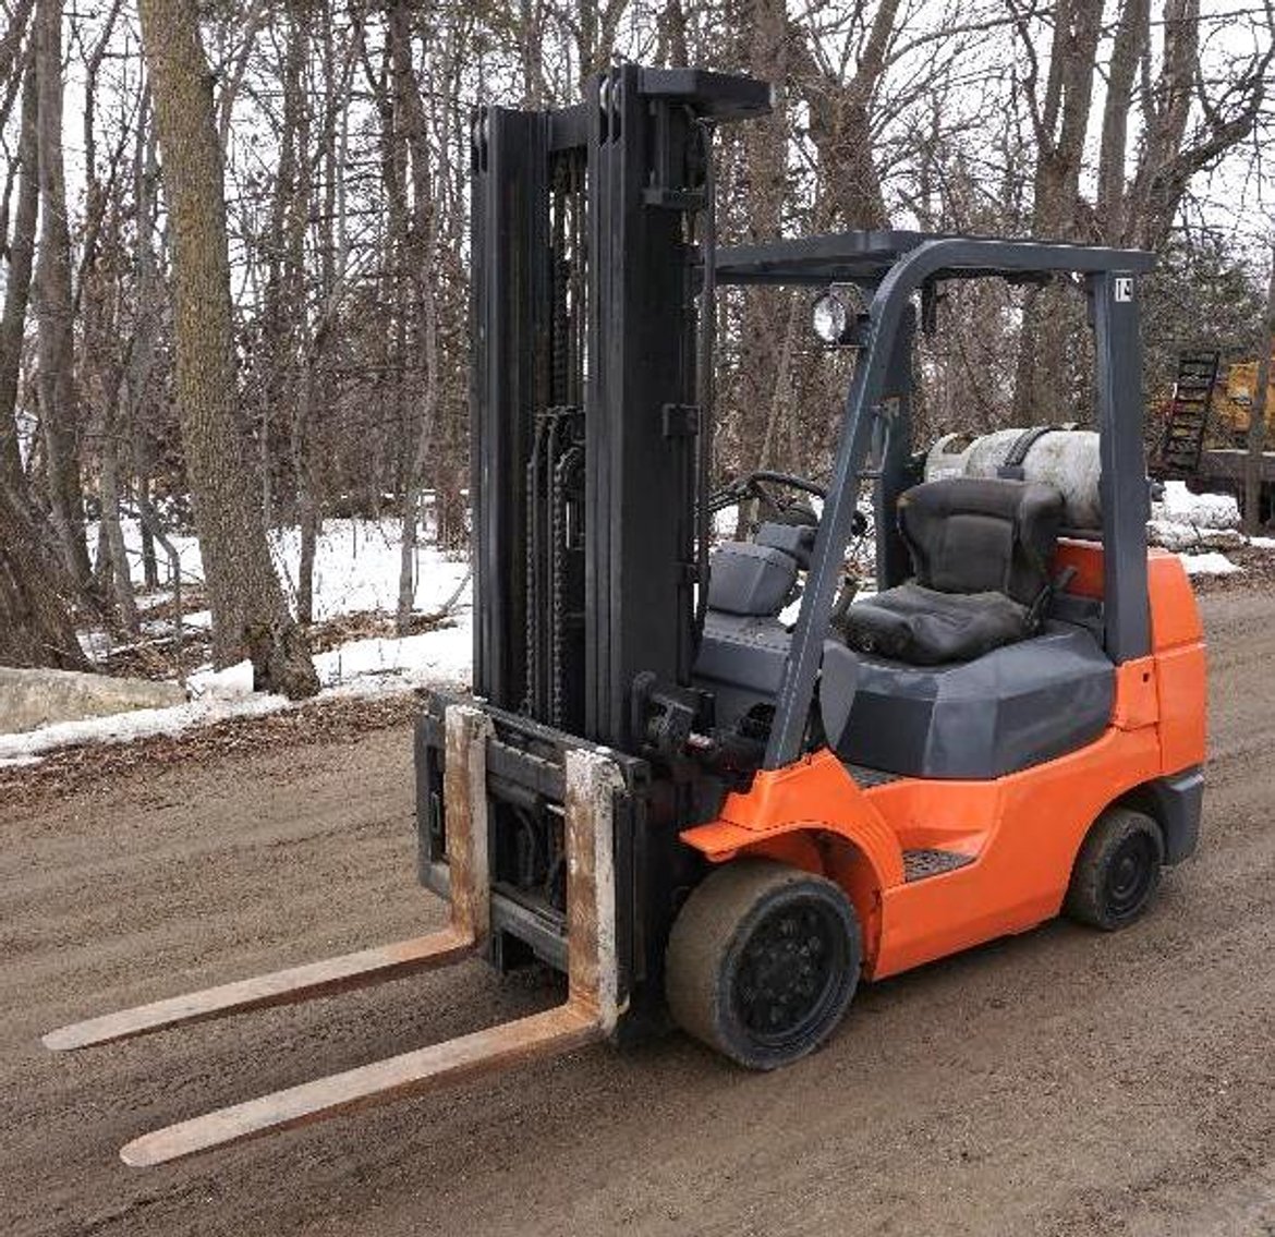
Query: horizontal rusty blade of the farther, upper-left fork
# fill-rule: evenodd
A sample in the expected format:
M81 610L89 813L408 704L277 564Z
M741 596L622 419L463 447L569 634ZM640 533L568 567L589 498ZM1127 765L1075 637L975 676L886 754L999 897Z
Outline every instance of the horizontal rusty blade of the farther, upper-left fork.
M473 948L473 936L445 928L428 936L326 958L303 967L254 976L251 979L238 979L215 988L89 1018L83 1023L71 1023L48 1032L43 1037L43 1044L55 1052L65 1052L244 1010L309 1001L333 992L397 979L413 972L445 967L472 953Z

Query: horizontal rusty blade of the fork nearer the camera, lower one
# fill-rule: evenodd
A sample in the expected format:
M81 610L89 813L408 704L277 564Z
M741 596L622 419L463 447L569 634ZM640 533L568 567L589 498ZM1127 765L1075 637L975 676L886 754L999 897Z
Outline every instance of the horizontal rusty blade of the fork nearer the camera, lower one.
M134 1168L228 1146L340 1112L506 1069L519 1061L570 1052L602 1038L597 1014L569 1002L542 1014L361 1065L343 1074L249 1099L134 1139L120 1158Z

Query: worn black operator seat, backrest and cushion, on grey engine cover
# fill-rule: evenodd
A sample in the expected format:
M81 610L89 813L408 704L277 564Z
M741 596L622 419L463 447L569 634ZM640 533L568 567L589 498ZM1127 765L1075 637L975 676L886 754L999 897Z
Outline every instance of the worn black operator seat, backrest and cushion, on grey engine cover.
M968 662L1034 635L1062 524L1052 486L949 477L899 499L912 580L850 606L847 644L910 666Z

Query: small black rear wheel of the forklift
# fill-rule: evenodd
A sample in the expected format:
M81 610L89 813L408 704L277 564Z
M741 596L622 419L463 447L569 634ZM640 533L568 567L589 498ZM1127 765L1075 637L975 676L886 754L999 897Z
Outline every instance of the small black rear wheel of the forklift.
M1063 911L1104 932L1127 927L1155 898L1163 863L1160 826L1142 812L1109 807L1076 856Z

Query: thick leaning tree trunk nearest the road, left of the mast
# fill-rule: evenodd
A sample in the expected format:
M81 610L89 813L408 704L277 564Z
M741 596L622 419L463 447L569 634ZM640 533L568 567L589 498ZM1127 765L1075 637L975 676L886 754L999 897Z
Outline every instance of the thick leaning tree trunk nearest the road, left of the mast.
M236 423L226 200L199 6L142 0L139 13L168 200L177 413L213 612L213 661L249 657L259 689L312 695L319 680L270 561Z

